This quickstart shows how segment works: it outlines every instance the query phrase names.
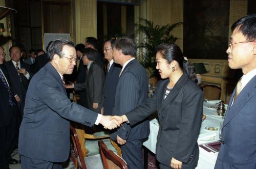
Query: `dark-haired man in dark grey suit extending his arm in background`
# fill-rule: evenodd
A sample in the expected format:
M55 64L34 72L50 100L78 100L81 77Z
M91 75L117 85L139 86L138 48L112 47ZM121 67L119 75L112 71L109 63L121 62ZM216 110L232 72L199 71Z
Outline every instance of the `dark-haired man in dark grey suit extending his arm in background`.
M81 52L83 64L87 65L87 78L82 83L66 85L66 88L74 88L75 91L86 89L89 109L100 114L103 105L104 73L100 65L96 62L97 50L85 48Z

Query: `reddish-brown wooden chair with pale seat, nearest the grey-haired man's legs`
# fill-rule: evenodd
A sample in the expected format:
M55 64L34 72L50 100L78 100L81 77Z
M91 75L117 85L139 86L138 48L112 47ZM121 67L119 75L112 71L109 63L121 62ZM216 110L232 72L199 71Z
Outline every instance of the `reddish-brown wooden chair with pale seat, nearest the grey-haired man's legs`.
M71 137L71 147L70 147L70 158L73 161L75 168L89 169L89 168L102 168L102 160L99 155L92 157L83 158L82 150L80 147L78 135L76 130L70 125L70 137ZM95 166L97 164L97 166Z

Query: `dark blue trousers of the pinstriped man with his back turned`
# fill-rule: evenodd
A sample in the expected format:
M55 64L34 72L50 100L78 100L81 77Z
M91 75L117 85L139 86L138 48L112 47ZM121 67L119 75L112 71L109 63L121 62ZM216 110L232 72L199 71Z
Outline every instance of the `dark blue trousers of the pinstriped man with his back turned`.
M127 140L126 144L121 146L122 157L126 161L128 168L143 169L142 158L143 140Z

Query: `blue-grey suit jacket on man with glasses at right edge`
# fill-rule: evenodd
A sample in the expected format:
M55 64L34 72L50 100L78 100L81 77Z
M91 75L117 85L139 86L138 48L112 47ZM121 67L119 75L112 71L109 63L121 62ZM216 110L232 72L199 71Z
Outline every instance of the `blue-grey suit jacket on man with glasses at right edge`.
M233 101L233 91L222 128L222 145L215 168L256 168L256 76Z

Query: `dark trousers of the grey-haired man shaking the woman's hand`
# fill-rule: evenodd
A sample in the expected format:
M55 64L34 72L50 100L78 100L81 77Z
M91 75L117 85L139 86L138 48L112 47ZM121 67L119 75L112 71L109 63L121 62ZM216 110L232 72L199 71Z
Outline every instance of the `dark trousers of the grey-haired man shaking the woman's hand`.
M36 169L61 169L61 163L50 162L44 160L37 160L20 155L22 159L22 169L36 168Z

